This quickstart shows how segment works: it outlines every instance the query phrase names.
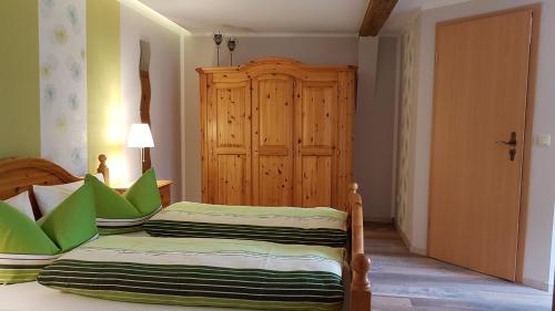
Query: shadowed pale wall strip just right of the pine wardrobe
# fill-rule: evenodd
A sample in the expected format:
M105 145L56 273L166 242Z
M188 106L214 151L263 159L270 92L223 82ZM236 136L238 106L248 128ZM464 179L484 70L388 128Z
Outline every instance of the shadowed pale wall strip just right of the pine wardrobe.
M380 222L391 222L394 203L397 41L361 39L359 45L354 179L367 198L365 220Z

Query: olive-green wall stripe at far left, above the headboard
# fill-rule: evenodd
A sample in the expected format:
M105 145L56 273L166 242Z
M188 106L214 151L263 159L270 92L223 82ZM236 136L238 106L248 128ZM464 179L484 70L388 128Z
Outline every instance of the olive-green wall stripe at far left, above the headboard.
M0 158L40 155L37 0L0 0Z

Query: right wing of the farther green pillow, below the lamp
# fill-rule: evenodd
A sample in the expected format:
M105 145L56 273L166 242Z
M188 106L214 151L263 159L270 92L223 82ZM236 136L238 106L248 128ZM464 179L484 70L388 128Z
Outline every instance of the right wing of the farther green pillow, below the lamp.
M162 201L153 168L144 174L123 195L142 215L151 215L160 209Z

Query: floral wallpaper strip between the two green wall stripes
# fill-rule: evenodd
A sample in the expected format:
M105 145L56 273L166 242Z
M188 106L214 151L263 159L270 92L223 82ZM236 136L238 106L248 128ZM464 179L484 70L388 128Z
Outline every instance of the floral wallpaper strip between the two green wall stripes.
M87 173L85 0L39 1L41 153Z

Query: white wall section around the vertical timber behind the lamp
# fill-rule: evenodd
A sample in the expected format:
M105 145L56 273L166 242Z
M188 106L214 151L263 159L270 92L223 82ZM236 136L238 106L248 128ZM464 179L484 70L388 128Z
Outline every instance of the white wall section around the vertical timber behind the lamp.
M151 124L155 147L152 166L158 179L173 180L172 198L181 199L181 127L180 127L180 34L133 8L121 4L121 97L123 128L140 123L141 81L139 59L141 40L150 42ZM127 136L125 136L127 137ZM123 148L129 166L127 182L141 175L140 152Z

